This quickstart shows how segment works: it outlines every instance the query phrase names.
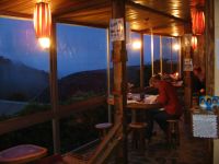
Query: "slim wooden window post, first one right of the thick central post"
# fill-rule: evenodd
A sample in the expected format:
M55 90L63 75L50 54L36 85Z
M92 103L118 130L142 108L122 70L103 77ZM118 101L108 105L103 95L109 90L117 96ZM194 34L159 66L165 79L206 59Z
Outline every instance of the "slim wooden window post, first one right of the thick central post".
M145 87L145 59L143 59L143 34L140 34L141 49L140 49L140 89L143 91Z

